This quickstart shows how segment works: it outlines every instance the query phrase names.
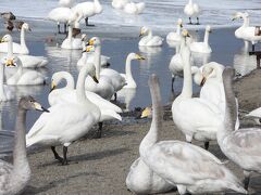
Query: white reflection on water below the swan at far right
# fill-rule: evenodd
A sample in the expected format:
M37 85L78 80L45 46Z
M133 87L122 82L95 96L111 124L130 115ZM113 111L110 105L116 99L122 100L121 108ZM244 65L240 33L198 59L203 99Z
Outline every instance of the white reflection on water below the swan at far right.
M257 57L256 55L249 55L248 46L245 46L239 53L234 55L233 66L240 76L245 76L257 68Z

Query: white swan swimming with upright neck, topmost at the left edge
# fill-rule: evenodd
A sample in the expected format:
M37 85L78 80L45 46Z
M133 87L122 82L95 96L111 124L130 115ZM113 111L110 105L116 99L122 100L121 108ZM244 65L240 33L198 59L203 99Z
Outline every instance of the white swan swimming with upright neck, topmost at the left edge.
M25 43L25 31L27 30L30 31L29 25L24 23L21 29L21 43L13 42L13 53L29 54L29 50ZM8 42L0 43L0 52L8 53Z

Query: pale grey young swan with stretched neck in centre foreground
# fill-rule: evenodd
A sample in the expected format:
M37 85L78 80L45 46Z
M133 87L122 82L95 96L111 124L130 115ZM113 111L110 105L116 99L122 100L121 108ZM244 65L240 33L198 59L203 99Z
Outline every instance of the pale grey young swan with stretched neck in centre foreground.
M157 81L157 77L152 75L150 86L156 88ZM154 173L173 186L177 186L179 194L229 190L247 194L236 176L208 151L182 141L156 143L154 139L162 128L163 116L160 108L152 112L151 127L139 145L139 153L144 162ZM187 117L190 119L189 116Z

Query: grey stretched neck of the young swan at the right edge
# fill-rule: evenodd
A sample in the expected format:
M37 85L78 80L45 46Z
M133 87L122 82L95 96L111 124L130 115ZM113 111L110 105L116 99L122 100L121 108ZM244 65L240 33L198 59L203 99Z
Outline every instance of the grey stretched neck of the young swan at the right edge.
M233 68L225 68L223 72L223 82L225 90L225 120L224 126L217 131L217 141L222 141L226 135L235 130L235 123L237 119L237 106L236 99L233 91L232 79L235 75L235 70Z

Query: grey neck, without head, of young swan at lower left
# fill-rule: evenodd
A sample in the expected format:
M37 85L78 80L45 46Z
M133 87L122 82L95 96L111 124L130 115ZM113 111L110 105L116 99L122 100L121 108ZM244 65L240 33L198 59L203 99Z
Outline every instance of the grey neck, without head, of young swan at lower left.
M23 176L24 173L30 172L29 164L26 156L25 121L26 110L21 105L18 105L14 134L12 177Z

